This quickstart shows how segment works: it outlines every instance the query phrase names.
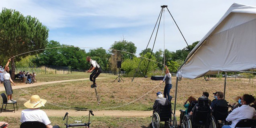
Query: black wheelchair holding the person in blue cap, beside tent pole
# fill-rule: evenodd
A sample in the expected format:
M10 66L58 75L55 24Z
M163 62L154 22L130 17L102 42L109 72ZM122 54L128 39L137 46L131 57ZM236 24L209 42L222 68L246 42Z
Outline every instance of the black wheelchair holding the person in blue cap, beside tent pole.
M172 112L172 103L169 105L158 105L158 111L153 111L152 127L159 128L160 122L164 121L169 128L176 128L176 116Z

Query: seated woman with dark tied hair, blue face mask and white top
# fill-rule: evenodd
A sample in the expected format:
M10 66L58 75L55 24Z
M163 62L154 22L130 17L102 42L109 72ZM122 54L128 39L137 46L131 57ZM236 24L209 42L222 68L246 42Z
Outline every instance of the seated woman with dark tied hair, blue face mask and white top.
M232 121L231 125L223 125L222 128L235 128L236 124L242 119L252 119L255 117L256 110L249 105L255 100L252 95L244 94L239 100L241 107L234 109L226 118L226 121Z

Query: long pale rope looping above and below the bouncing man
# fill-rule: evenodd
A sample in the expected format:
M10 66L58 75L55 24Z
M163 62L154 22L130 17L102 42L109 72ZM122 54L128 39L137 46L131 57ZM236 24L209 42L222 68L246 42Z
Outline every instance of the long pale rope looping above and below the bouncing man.
M64 46L64 47L54 47L54 48L45 48L45 49L39 49L39 50L34 50L34 51L30 51L30 52L36 52L36 51L42 51L42 50L48 50L48 49L57 49L57 48L68 48L68 47L74 47L76 48L75 46ZM79 48L87 48L87 49L103 49L103 48L90 48L90 47L79 47ZM106 49L103 49L103 50L106 50ZM132 54L134 56L137 57L136 54L133 54L133 53L130 53L130 52L126 52L126 51L121 51L121 50L115 50L115 49L108 49L108 50L111 50L111 51L118 51L118 52L125 52L125 53L129 53L129 54ZM23 54L27 54L27 53L30 53L30 52L24 52L24 53L21 53L21 54L18 54L18 55L15 55L13 56L12 58L14 57L17 57L17 56L20 56L20 55L23 55ZM147 60L150 60L150 61L153 61L153 62L156 62L156 63L159 63L159 64L162 64L160 62L157 62L155 60L151 60L151 59L148 59L148 58L145 58L145 57L142 57L142 56L139 56L141 58L144 58L144 59L147 59ZM10 59L12 59L10 58ZM162 64L164 65L164 64ZM164 65L165 66L165 65ZM157 84L153 89L151 89L149 92L152 92L156 87L158 87L160 84ZM29 92L23 90L22 88L20 88L19 86L17 86L20 90L22 90L23 92L26 92L27 94L31 95ZM137 100L140 100L142 97L146 96L149 92L147 92L146 94L142 95L140 98L136 99L136 100L133 100L132 102L129 102L129 103L126 103L124 105L120 105L120 106L116 106L116 107L111 107L111 108L99 108L99 109L85 109L85 108L70 108L70 107L65 107L65 106L60 106L60 105L56 105L56 104L53 104L53 103L50 103L50 102L46 102L46 103L49 103L51 105L54 105L54 106L57 106L57 107L61 107L61 108L68 108L68 109L75 109L75 110L106 110L106 109L113 109L113 108L120 108L120 107L123 107L123 106L126 106L126 105L129 105Z

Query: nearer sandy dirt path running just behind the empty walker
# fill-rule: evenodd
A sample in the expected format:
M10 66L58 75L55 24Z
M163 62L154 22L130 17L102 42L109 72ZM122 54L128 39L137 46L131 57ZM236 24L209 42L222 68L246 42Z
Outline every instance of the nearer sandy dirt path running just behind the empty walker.
M88 111L77 111L77 110L50 110L43 109L47 116L64 116L68 112L68 116L86 116ZM22 110L14 111L6 110L2 111L0 116L6 117L20 117ZM93 114L95 116L112 116L112 117L150 117L153 114L153 111L122 111L122 110L94 110ZM176 116L179 116L179 111L176 112Z

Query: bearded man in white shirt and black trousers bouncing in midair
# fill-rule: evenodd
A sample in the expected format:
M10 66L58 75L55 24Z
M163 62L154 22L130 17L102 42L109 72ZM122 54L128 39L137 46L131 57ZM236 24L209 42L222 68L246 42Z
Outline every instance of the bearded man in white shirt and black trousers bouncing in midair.
M95 83L95 79L100 75L100 73L102 72L100 65L97 63L96 60L92 60L90 56L86 57L87 62L89 62L91 64L91 68L87 71L87 73L91 73L90 75L90 80L93 82L93 84L91 85L91 88L97 87L96 83Z

